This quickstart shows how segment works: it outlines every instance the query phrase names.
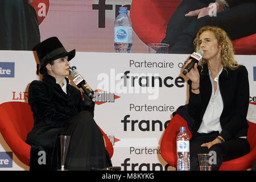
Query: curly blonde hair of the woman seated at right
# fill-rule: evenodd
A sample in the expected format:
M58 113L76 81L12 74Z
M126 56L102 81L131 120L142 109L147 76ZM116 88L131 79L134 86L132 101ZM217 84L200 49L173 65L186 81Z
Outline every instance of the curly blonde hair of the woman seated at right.
M237 64L237 61L234 60L234 48L232 41L230 40L228 34L226 34L226 32L220 27L205 26L200 28L193 42L195 49L199 49L200 35L207 30L213 32L214 36L217 39L218 45L221 46L221 63L224 68L237 69L238 67L240 67L240 65ZM202 59L200 65L204 64L207 64L207 60Z

